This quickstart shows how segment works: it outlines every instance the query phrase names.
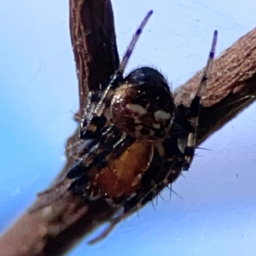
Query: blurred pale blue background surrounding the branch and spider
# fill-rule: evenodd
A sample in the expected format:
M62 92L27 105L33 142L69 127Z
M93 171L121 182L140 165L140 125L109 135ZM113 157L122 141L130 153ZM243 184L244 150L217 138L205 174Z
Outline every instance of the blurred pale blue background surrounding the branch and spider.
M214 29L219 55L256 26L253 0L114 0L120 57L149 9L126 73L156 67L173 90L206 65ZM0 3L1 233L65 163L79 108L68 15L63 0ZM253 104L201 145L209 150L196 151L172 198L164 190L154 207L69 255L256 255L255 112Z

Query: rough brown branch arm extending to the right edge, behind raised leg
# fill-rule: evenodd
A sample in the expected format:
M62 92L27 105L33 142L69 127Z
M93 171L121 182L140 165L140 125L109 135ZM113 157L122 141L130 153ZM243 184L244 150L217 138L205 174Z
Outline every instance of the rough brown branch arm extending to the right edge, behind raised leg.
M179 110L188 108L201 72L174 92ZM256 94L256 28L241 37L213 61L212 73L201 100L197 145L254 101ZM183 114L186 111L180 111ZM203 121L201 121L203 120Z

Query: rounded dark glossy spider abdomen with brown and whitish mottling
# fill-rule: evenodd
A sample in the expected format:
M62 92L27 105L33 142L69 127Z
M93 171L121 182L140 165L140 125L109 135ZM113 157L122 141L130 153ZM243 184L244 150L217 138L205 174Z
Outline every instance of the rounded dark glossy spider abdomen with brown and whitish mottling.
M114 91L113 124L137 139L165 137L173 119L174 104L166 79L150 67L128 75Z

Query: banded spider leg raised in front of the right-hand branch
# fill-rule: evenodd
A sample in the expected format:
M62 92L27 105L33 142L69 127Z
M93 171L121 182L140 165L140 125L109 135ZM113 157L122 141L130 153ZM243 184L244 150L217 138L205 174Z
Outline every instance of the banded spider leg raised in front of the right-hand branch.
M202 96L202 91L207 85L207 79L208 79L209 73L211 72L212 61L214 59L215 48L217 44L217 38L218 38L218 31L215 30L213 33L211 51L209 53L208 60L207 60L207 67L204 70L204 73L201 78L201 82L198 85L198 89L196 91L195 97L192 100L190 105L190 113L189 113L189 126L190 126L189 130L190 131L189 131L187 146L184 150L185 162L183 165L183 170L189 169L190 163L195 154L195 140L196 140L197 127L198 127L201 96Z

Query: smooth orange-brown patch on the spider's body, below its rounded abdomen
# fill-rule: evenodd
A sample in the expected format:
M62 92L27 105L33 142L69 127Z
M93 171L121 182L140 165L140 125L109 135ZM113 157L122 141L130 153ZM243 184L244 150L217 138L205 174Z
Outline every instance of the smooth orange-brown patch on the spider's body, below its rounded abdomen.
M148 170L153 154L152 143L132 143L119 158L110 158L108 166L97 172L92 182L93 190L112 199L131 195L140 187L141 178Z

